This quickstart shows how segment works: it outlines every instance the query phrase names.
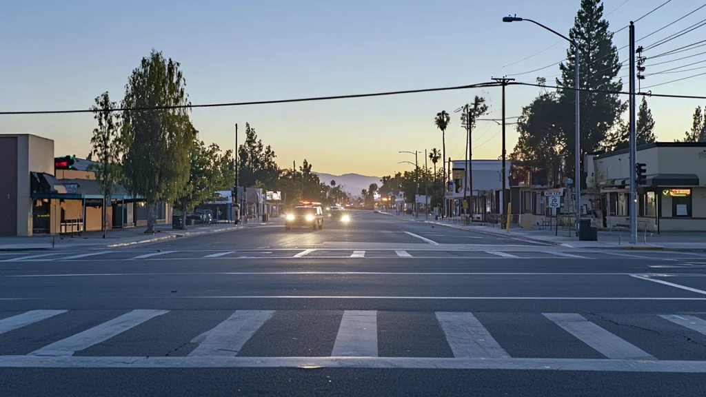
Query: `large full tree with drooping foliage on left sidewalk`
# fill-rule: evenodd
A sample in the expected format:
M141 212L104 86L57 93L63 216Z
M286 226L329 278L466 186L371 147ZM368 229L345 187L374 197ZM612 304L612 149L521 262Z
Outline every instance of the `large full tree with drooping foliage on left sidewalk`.
M152 50L125 86L121 139L128 186L148 204L145 232L154 232L155 203L173 203L189 180L191 102L179 62Z

